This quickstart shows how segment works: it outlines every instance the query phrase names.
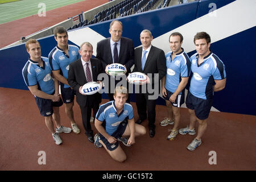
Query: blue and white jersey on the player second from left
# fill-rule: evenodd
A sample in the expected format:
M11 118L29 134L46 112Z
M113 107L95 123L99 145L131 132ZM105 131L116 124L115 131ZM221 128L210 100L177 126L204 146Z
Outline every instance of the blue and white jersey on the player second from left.
M60 70L60 75L68 78L69 64L80 58L79 48L76 46L68 45L68 55L58 46L52 49L49 53L49 65L52 71ZM60 82L64 88L69 88L69 85L65 85Z

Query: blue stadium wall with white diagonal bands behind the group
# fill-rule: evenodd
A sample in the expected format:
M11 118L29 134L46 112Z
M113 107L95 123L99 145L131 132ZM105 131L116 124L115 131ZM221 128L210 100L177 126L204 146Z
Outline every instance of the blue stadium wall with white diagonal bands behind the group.
M181 32L183 48L189 56L195 53L193 36L196 32L208 32L212 39L210 49L224 62L227 73L226 88L214 93L213 107L229 113L256 115L254 7L254 0L203 0L125 16L119 20L123 23L123 36L133 39L135 47L141 45L140 32L148 29L154 36L152 44L168 52L169 35L174 31ZM81 42L88 41L93 44L96 56L97 42L110 36L110 22L69 31L69 43L79 46ZM46 57L56 46L53 36L39 39L39 42L42 56ZM27 59L24 44L0 50L1 87L27 89L22 77ZM164 104L161 97L158 104Z

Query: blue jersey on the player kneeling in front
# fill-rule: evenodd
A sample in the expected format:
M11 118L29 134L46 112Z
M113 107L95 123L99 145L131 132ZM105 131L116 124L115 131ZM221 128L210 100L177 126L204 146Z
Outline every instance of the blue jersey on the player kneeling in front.
M125 103L123 110L117 115L117 109L114 101L109 101L104 105L101 105L96 114L98 121L104 122L102 126L106 130L106 133L112 135L117 130L119 124L125 119L133 119L133 106Z

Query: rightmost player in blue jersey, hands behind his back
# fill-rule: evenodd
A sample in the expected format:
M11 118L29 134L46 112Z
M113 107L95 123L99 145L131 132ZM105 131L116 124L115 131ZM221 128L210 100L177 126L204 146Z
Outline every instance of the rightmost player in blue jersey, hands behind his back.
M180 129L180 134L195 135L196 121L199 123L197 137L187 146L190 151L200 146L201 137L207 129L207 118L213 104L213 93L225 88L225 65L210 51L210 36L199 32L194 37L196 52L191 56L191 71L193 73L186 105L190 113L190 125Z

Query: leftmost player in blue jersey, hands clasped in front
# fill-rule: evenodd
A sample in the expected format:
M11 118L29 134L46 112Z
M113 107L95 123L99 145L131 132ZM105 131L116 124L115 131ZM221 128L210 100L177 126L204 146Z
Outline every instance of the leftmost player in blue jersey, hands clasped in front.
M52 78L48 58L41 57L41 47L37 40L30 39L25 44L30 55L22 69L22 75L30 92L35 96L36 105L44 117L48 130L56 144L62 140L58 133L71 133L71 129L60 125L59 107L63 102L59 96L59 82ZM56 131L53 127L56 124Z

